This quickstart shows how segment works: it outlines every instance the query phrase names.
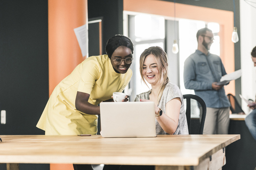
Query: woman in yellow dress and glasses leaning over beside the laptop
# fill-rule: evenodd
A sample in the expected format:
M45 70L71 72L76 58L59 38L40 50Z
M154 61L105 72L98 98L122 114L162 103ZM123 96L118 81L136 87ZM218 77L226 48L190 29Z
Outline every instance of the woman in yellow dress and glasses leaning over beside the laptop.
M55 87L37 128L46 135L97 134L97 105L113 101L113 92L122 92L131 80L133 43L130 38L116 35L108 40L106 53L86 58ZM93 168L74 164L74 169Z

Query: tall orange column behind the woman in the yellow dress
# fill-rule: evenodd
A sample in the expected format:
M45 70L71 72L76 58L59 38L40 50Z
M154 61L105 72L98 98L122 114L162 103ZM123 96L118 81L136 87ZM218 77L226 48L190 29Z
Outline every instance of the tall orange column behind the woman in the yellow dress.
M49 96L85 58L74 29L87 22L87 0L49 0ZM88 28L88 27L86 27ZM51 164L51 170L72 170L72 164Z

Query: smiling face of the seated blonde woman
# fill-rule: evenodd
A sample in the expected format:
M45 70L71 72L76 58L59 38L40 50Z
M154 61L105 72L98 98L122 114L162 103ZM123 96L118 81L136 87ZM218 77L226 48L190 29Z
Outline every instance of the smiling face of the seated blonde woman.
M156 85L159 82L160 73L154 55L149 54L143 63L142 67L143 78L151 85Z

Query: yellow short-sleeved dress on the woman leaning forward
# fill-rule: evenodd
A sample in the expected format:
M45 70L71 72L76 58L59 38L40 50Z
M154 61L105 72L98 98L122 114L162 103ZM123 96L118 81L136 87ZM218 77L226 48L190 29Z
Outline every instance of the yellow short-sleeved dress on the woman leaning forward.
M122 92L132 77L116 73L108 55L91 56L79 64L52 92L37 128L45 134L96 134L98 115L82 113L75 108L77 91L90 94L89 103L98 105Z

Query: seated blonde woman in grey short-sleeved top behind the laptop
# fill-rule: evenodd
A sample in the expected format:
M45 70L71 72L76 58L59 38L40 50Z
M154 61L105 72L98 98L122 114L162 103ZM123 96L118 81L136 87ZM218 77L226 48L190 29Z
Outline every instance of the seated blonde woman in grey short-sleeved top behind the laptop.
M167 55L161 47L149 47L140 56L140 75L152 89L137 95L135 101L154 101L156 134L188 134L183 95L169 81ZM103 170L155 169L155 166L105 165Z

